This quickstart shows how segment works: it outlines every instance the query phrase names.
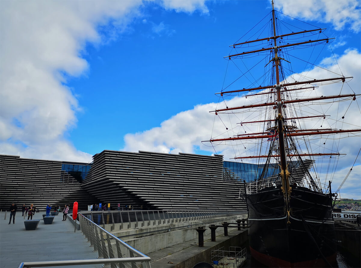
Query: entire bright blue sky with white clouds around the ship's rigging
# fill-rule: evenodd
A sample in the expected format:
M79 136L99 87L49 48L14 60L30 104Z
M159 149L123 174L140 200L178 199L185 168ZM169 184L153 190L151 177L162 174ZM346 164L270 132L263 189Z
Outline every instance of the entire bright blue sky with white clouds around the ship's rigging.
M327 28L333 51L316 63L334 53L345 75L358 75L351 86L360 93L360 1L275 3ZM212 133L223 56L270 8L268 0L1 1L0 153L82 162L105 149L214 153L201 141ZM360 148L344 147L340 170Z

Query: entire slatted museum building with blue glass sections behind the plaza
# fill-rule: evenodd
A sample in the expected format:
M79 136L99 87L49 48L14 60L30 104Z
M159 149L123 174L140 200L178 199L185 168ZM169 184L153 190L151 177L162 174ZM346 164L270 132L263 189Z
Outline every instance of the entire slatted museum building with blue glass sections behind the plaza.
M239 198L258 166L223 161L222 155L104 150L92 163L0 155L0 206L31 203L79 209L110 203L128 209L245 209Z

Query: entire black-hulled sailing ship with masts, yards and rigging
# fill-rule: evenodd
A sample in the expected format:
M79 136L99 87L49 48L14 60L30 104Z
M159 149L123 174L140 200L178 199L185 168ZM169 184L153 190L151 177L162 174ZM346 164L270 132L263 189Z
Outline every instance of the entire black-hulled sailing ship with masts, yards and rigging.
M253 39L230 46L232 52L225 59L231 64L242 62L237 66L241 74L217 93L221 99L218 107L225 107L211 111L216 117L225 116L221 119L226 129L222 134L227 136L217 134L208 142L212 146L236 146L235 159L258 165L256 177L253 181L247 178L251 182L243 191L252 257L269 267L333 267L336 241L332 199L337 194L331 191L332 177L327 177L327 170L318 163L335 172L332 161L337 163L342 156L335 141L344 136L359 137L360 128L344 129L345 114L330 120L338 109L345 113L341 102L352 105L360 95L344 86L352 77L331 72L331 78L320 78L326 73L324 68L315 71L318 66L310 61L311 56L318 55L315 48L334 40L325 36L326 29L307 25L311 29L293 31L282 21L285 16L275 10L272 1L272 10L265 17L270 26L259 23L264 26L251 36ZM301 54L305 67L296 73L291 63L302 60L293 53L299 48L306 50ZM236 83L244 82L245 77L251 86ZM338 88L337 95L324 95L334 88ZM228 107L236 101L241 104ZM236 119L229 119L231 116ZM343 128L337 122L343 122ZM338 136L332 138L334 135Z

